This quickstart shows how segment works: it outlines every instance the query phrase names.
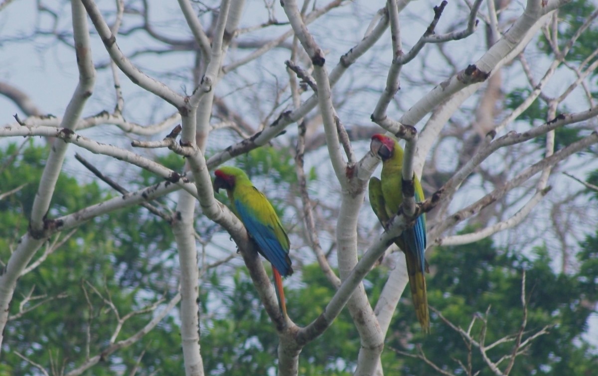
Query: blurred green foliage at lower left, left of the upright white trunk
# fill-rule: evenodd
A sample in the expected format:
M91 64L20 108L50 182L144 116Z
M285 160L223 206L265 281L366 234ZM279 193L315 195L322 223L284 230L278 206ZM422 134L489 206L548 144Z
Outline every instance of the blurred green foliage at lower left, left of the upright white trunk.
M0 151L0 191L26 184L0 201L0 259L4 262L28 227L47 154L47 148L32 142L21 151L16 145ZM107 197L108 193L95 182L81 184L61 174L48 218L75 212ZM151 218L147 210L132 207L93 219L68 239L62 233L44 244L33 261L50 244L66 239L42 264L19 279L10 314L18 314L22 303L23 308L31 310L10 320L5 328L0 374L37 372L16 351L48 367L50 359L60 366L64 364L67 370L79 366L85 360L87 346L90 356L101 353L117 325L105 299L110 299L123 317L152 304L164 293L166 298L176 294L176 276L172 274L175 253L169 250L172 231L164 231L164 226L167 224ZM32 300L26 302L29 295ZM38 302L42 304L35 307ZM151 319L151 313L133 316L116 341L135 334ZM145 351L141 369L178 375L182 369L180 346L178 325L168 317L142 341L106 357L88 374L112 375L114 367L133 369Z

